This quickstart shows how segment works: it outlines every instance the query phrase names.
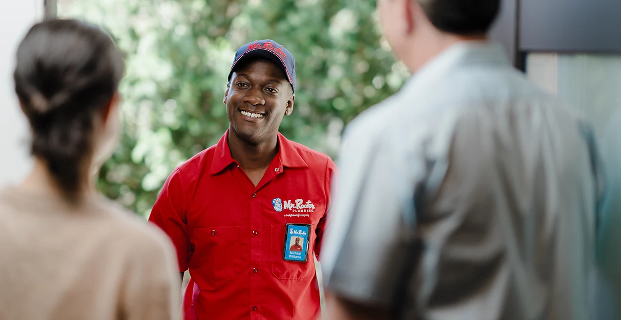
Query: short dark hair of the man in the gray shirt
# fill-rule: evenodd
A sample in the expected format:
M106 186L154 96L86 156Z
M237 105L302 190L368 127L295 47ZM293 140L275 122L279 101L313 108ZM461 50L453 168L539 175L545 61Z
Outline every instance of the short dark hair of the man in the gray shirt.
M438 30L457 35L487 33L500 10L500 0L412 0Z

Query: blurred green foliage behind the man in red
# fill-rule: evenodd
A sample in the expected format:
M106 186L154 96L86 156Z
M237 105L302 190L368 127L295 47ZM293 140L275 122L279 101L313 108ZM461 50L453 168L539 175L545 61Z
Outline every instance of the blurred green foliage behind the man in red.
M147 216L170 172L229 127L222 103L235 50L270 38L296 58L281 132L334 157L343 125L401 87L368 0L64 0L58 14L102 25L127 61L124 134L99 189Z

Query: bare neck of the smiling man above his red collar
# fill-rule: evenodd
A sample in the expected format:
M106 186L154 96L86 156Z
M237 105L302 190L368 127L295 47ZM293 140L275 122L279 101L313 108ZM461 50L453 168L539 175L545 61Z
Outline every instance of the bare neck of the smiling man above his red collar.
M229 130L227 139L232 158L239 162L245 171L270 166L278 153L278 135L263 143L253 144L240 138L235 131Z

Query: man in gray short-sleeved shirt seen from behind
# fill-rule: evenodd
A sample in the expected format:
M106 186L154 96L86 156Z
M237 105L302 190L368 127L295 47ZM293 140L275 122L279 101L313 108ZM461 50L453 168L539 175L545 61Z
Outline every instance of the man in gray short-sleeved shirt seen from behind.
M590 319L591 128L487 41L499 0L378 0L414 76L345 131L329 319Z

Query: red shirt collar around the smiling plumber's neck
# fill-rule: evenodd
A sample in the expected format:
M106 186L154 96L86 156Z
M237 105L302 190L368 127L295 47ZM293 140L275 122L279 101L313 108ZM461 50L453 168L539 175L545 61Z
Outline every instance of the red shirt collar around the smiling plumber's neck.
M214 159L211 162L209 174L218 174L231 164L237 164L237 161L231 156L228 138L229 130L215 144ZM276 158L279 161L279 165L283 167L308 167L308 164L302 159L293 143L281 133L278 133L278 147Z

